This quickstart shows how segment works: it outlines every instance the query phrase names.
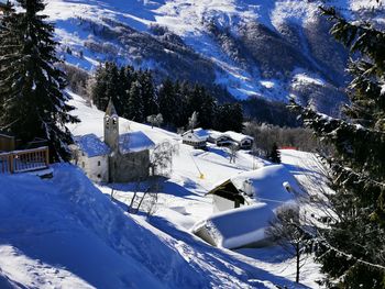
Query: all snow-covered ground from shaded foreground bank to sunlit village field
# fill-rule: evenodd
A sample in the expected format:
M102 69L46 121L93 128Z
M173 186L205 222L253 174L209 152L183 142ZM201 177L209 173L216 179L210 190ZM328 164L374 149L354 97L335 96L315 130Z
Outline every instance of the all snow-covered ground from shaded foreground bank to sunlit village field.
M73 96L81 123L75 135L102 136L103 112ZM226 151L208 152L182 144L177 134L120 120L121 133L143 131L154 143L179 146L174 169L163 184L154 214L131 215L123 209L134 184L95 187L78 168L55 165L54 178L0 176L0 288L298 288L294 259L277 247L238 249L212 247L190 233L212 213L205 193L237 174L268 165L241 152L229 164ZM283 152L294 175L311 167L311 154ZM309 165L310 164L310 165ZM201 178L201 174L204 178ZM307 178L306 178L307 179ZM105 193L102 193L105 192ZM304 287L317 288L319 267L304 267Z

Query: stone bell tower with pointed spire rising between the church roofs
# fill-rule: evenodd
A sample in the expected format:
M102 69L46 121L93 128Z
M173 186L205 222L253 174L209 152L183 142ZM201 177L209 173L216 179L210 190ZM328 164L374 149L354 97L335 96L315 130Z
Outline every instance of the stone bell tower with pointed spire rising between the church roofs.
M119 116L111 99L105 114L105 143L113 152L117 152L119 147Z

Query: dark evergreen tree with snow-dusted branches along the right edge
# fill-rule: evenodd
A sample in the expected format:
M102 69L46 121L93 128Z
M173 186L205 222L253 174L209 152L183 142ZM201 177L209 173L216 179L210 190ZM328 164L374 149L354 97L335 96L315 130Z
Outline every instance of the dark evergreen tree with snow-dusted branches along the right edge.
M333 173L336 211L329 230L319 230L322 269L340 288L385 288L385 33L369 23L350 23L333 9L331 33L354 56L346 119L332 119L292 103L305 124L336 146L327 158Z

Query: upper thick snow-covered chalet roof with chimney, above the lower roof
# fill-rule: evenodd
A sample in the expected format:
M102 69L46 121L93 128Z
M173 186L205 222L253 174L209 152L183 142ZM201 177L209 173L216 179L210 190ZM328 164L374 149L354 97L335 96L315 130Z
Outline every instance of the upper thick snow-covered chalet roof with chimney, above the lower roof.
M231 178L232 184L248 193L253 190L253 199L262 202L283 203L295 198L293 192L300 192L297 180L283 165L272 165L256 170L241 173ZM251 188L245 186L251 186ZM290 188L288 191L287 188Z

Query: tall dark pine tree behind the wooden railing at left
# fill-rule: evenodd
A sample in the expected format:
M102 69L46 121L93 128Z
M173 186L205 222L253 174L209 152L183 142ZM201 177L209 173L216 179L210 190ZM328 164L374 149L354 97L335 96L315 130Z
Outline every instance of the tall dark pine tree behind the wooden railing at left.
M67 82L54 66L54 26L41 12L42 0L19 0L0 26L0 127L23 143L35 137L48 141L52 160L68 159L73 142L67 123L78 120L64 93Z

